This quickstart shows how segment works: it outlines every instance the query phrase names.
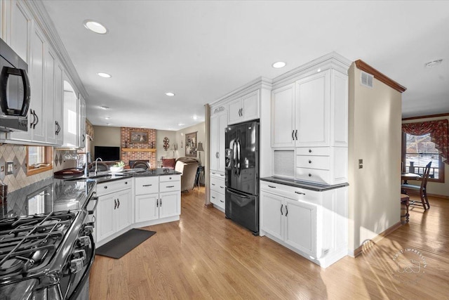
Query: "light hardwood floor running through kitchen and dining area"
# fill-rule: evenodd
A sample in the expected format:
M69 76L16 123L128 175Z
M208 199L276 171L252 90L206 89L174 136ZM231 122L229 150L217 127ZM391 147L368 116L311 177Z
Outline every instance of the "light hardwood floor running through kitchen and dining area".
M361 256L322 269L203 198L182 193L180 221L147 227L156 235L121 259L96 256L91 299L449 299L449 200L431 197Z

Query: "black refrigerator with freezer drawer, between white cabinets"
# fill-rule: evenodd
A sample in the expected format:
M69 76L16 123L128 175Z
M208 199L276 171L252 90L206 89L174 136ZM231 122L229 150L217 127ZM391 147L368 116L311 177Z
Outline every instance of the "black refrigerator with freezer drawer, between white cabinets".
M225 214L259 235L259 121L225 131Z

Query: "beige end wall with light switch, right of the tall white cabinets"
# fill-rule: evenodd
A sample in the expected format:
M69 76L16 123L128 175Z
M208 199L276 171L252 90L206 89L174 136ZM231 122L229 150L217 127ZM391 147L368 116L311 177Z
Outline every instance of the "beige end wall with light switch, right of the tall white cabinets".
M401 93L349 69L349 254L401 219ZM363 159L363 169L358 169Z

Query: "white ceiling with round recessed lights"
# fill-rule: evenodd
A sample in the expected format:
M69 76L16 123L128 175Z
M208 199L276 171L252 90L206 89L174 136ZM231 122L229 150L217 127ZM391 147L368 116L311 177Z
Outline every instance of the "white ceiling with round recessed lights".
M449 1L43 4L88 92L94 125L191 126L204 120L205 103L331 51L406 86L403 117L449 112ZM102 22L109 33L86 30L86 19ZM441 65L424 67L440 58ZM278 60L287 66L274 69Z

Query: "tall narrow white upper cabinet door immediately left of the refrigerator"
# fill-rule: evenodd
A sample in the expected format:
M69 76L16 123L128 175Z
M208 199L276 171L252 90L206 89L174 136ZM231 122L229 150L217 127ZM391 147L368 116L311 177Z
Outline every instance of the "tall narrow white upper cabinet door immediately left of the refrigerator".
M211 110L210 116L210 170L225 172L225 129L227 111Z

